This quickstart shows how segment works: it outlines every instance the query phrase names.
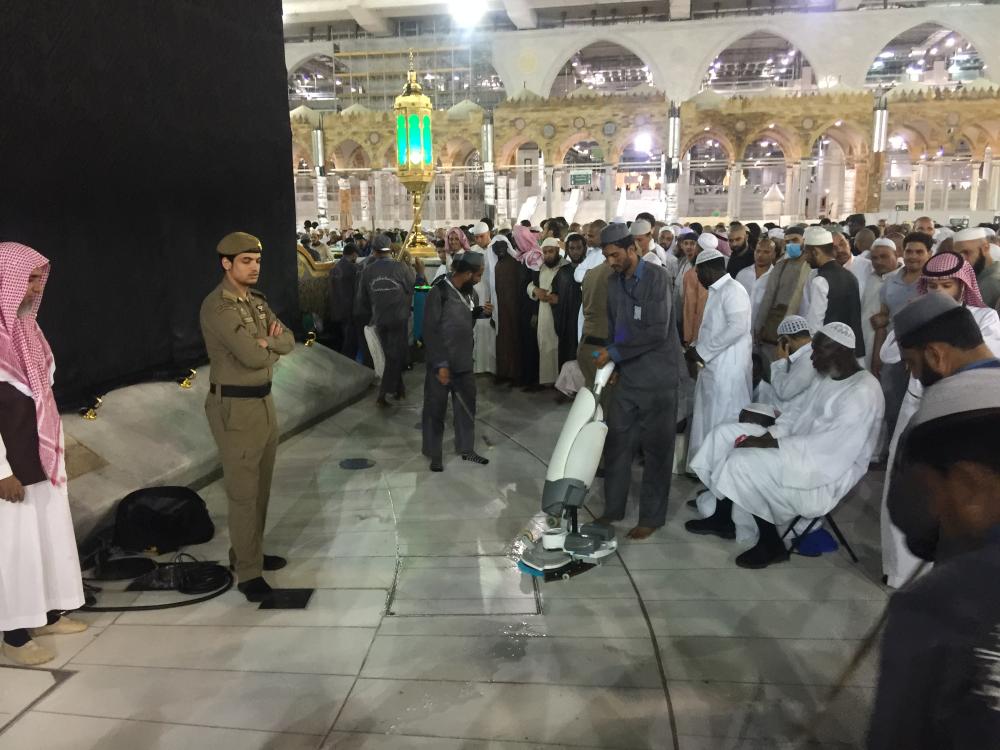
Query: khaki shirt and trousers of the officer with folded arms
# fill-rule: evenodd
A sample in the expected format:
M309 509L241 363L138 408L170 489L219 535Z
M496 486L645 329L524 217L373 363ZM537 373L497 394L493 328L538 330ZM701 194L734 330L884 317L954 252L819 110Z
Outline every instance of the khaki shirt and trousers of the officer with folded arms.
M211 364L205 413L222 458L229 496L229 561L239 581L260 577L264 524L278 447L278 421L270 395L232 398L220 386L267 386L279 355L295 346L292 333L268 336L277 320L256 290L240 298L226 281L201 305L201 331ZM265 339L263 348L257 339Z

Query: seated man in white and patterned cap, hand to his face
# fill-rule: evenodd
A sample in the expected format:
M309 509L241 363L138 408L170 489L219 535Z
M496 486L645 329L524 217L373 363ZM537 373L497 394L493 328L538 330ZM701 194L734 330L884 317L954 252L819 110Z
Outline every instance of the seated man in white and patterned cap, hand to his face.
M771 363L770 382L757 386L757 400L772 404L786 419L805 405L805 395L819 375L812 365L812 336L801 315L789 315L778 324L778 346Z

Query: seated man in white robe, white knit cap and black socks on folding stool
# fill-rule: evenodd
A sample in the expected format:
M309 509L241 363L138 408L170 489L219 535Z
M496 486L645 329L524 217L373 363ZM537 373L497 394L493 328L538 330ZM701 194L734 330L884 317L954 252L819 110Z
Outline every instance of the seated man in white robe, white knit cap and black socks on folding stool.
M826 515L867 472L885 400L878 381L858 365L855 343L850 326L827 323L813 341L820 377L798 415L767 429L726 425L692 460L719 501L712 516L686 528L732 539L736 524L752 516L758 541L736 558L740 567L787 560L778 526ZM734 428L740 431L735 438Z

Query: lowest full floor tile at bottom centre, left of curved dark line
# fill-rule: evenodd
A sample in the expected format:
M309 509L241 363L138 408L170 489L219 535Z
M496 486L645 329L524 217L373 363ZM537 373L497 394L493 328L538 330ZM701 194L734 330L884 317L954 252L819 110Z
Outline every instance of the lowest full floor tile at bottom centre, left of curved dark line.
M358 681L339 731L662 750L662 690Z

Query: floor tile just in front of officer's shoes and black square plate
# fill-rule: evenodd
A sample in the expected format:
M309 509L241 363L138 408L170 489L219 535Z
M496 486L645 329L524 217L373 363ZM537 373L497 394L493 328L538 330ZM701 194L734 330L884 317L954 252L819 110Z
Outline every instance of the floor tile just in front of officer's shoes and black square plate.
M260 609L236 591L190 607L127 612L119 625L218 625L221 627L378 627L385 611L386 589L320 589L305 609ZM136 604L176 601L176 593L146 592Z

